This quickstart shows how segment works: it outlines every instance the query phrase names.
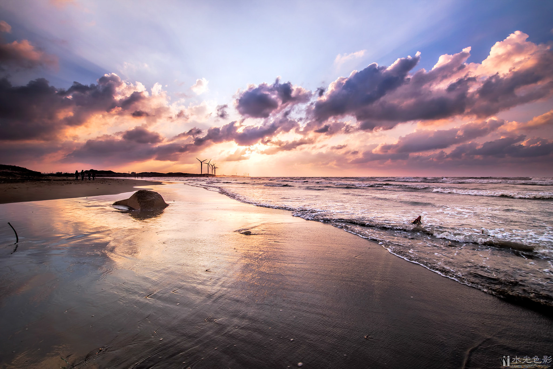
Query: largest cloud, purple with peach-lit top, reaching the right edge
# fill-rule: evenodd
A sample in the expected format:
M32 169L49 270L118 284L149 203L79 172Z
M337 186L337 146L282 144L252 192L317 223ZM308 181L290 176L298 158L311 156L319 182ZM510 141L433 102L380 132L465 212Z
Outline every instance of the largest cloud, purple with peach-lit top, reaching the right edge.
M481 64L467 64L470 48L442 55L430 70L411 73L420 54L389 67L371 64L332 82L311 119L353 116L362 130L391 129L413 120L486 118L551 96L553 53L517 31L496 43ZM320 126L320 125L319 125Z

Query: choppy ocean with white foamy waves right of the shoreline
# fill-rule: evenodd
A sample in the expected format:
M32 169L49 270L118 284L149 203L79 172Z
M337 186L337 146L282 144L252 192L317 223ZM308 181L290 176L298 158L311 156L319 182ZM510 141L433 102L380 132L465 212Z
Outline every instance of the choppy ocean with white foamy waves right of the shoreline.
M553 178L165 179L330 223L460 283L553 307Z

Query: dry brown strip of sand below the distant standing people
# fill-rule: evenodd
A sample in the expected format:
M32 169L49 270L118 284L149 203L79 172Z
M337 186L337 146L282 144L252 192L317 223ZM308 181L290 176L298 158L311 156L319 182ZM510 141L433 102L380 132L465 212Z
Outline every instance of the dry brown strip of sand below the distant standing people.
M126 178L96 178L84 181L70 178L46 178L16 183L0 183L0 204L23 201L42 201L62 198L100 196L133 191L135 186L159 182Z

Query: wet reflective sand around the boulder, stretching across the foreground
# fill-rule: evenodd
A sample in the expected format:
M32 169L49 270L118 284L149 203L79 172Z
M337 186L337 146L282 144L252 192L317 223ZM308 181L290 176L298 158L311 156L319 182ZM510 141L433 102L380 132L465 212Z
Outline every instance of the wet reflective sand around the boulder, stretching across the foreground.
M170 206L109 206L130 193L0 205L20 237L11 254L0 228L2 367L489 368L552 354L550 317L376 243L150 188Z

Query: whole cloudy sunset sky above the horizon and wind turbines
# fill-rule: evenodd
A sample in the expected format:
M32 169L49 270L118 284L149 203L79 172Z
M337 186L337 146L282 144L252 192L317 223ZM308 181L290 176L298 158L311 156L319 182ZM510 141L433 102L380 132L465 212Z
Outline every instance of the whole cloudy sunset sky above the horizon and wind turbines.
M545 0L3 0L0 164L553 176L552 46Z

